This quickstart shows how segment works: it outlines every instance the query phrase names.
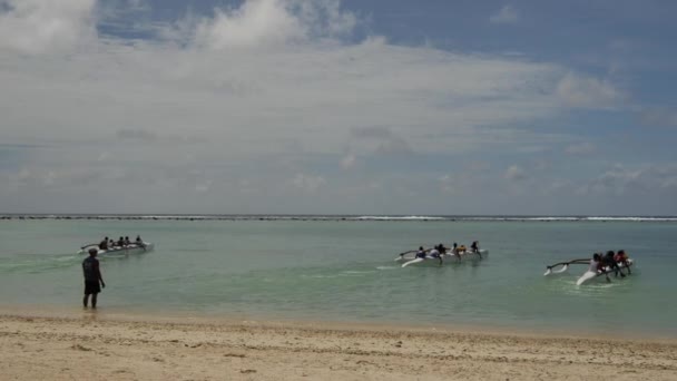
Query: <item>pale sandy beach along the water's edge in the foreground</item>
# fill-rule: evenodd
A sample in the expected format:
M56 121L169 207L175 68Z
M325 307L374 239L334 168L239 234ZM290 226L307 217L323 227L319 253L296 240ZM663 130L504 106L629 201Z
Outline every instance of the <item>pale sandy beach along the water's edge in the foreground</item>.
M3 380L675 380L677 342L3 312L0 374Z

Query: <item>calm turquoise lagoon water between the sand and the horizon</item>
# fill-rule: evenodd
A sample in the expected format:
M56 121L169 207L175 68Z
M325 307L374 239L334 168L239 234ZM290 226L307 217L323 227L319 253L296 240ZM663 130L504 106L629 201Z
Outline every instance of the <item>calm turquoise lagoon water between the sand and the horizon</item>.
M0 303L80 305L79 246L136 236L154 252L101 258L106 311L346 322L625 330L677 336L677 222L0 221ZM401 268L419 245L479 240L490 257ZM625 280L576 286L547 264L626 250Z

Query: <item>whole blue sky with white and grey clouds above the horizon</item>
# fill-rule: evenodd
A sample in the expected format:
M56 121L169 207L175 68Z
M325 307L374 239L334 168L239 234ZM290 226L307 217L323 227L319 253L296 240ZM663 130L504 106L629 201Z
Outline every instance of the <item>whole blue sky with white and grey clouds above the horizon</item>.
M676 14L0 0L0 213L677 215Z

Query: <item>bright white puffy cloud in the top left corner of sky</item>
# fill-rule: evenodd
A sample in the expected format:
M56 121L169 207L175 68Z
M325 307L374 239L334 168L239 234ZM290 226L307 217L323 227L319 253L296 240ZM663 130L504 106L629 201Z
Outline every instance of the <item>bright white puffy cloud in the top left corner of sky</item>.
M0 51L70 50L96 35L95 4L96 0L0 0Z

